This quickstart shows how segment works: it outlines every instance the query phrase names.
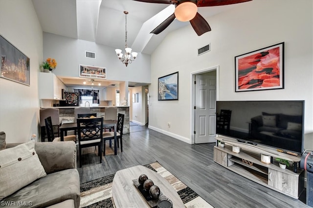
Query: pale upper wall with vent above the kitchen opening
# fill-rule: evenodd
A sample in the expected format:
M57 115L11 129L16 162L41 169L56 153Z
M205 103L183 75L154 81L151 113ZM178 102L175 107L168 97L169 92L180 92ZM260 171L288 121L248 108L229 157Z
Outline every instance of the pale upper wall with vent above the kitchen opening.
M122 44L122 43L121 43ZM150 55L139 53L126 67L119 61L115 48L86 40L44 33L44 58L55 58L56 76L79 77L79 65L106 67L108 80L150 83ZM96 53L96 59L86 58L85 51Z

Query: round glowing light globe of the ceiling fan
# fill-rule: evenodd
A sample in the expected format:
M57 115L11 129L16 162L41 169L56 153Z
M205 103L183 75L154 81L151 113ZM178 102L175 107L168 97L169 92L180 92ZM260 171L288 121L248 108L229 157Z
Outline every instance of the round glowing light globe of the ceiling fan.
M195 3L187 1L180 3L175 8L175 17L179 21L190 21L191 19L194 19L196 14L198 12L198 7Z

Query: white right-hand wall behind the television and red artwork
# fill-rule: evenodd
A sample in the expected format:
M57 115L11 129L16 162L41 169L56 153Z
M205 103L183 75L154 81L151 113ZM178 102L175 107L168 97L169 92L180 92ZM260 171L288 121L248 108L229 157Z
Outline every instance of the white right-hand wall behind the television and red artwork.
M149 127L191 143L190 74L218 65L220 100L305 100L304 146L313 149L313 1L253 0L206 20L211 32L198 37L184 27L152 55ZM235 93L234 57L280 42L285 42L285 89ZM197 56L208 43L211 51ZM157 101L157 77L176 71L179 100Z

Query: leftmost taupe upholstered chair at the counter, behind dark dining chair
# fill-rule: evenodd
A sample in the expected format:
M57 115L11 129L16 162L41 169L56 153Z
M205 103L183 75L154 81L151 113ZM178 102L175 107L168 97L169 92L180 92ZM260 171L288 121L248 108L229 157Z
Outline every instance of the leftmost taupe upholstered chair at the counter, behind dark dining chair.
M54 131L57 136L60 136L59 134L59 126L60 126L60 111L57 108L45 108L45 109L40 109L39 111L40 114L40 127L41 127L41 141L45 141L45 118L50 116L51 121L52 121L52 126L56 130Z

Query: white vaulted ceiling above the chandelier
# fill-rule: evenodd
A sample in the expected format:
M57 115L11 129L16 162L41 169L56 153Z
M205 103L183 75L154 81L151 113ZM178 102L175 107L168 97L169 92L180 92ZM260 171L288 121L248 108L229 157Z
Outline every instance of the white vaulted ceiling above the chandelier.
M152 54L165 36L189 22L175 19L158 35L150 34L174 13L174 5L134 0L32 0L44 32L83 39L123 49L125 14L127 44L135 52ZM198 12L207 19L239 4L201 7ZM74 80L71 80L74 82ZM81 82L81 79L79 80ZM66 85L70 84L65 82ZM105 84L104 84L105 85Z

